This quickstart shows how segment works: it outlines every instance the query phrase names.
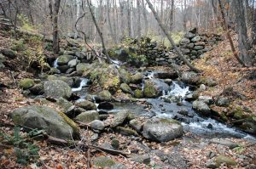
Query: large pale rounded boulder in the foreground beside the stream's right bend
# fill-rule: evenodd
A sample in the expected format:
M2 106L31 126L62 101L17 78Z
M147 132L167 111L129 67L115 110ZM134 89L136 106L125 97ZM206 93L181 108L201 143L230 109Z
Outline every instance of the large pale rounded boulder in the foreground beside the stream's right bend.
M143 125L143 136L156 142L167 142L182 135L183 127L175 120L153 117Z

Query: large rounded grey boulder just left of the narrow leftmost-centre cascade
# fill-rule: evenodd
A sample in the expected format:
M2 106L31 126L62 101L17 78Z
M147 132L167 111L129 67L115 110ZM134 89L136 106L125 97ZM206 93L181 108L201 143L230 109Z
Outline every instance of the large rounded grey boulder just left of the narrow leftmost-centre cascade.
M44 82L44 94L54 99L69 99L72 94L71 87L66 82L53 80Z

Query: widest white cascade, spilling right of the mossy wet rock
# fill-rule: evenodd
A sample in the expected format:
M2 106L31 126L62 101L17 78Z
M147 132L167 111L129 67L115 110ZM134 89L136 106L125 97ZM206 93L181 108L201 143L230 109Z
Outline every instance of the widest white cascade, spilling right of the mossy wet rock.
M188 93L190 93L189 87L181 87L177 82L172 82L171 91L168 92L168 95L183 99Z

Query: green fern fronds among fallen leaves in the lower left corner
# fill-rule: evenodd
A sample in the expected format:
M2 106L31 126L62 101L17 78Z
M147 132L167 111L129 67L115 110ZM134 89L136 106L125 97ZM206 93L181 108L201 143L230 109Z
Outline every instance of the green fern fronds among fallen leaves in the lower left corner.
M34 132L35 131L32 130L29 135ZM20 127L15 127L13 136L0 132L0 137L2 137L8 144L14 145L15 156L18 163L26 165L29 161L35 161L39 157L38 146L29 143L26 138L20 135Z

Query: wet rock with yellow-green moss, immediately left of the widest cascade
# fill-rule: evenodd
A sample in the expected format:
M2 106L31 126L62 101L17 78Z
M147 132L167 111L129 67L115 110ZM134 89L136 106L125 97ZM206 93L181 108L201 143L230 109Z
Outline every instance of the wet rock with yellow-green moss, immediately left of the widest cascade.
M169 86L160 79L149 79L145 81L144 95L147 98L159 97L163 91L168 91Z

